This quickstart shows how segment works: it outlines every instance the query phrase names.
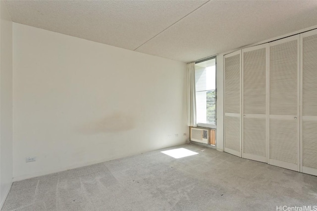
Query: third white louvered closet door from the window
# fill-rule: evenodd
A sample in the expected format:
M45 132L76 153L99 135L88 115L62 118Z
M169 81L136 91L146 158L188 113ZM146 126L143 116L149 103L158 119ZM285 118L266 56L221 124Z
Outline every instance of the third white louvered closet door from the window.
M268 164L299 171L300 36L269 47Z

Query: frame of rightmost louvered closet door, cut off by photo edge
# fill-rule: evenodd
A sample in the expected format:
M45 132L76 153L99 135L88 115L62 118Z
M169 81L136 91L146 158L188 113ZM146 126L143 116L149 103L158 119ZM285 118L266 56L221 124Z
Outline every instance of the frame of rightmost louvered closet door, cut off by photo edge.
M313 35L317 35L317 29L300 34L300 172L317 175L317 169L303 166L303 120L317 122L317 117L303 115L303 39Z

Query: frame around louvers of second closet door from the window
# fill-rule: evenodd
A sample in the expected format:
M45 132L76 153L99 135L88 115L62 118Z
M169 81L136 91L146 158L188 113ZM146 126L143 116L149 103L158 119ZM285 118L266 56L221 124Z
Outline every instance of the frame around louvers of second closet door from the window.
M265 118L265 158L263 156L259 156L259 155L254 155L254 154L249 154L249 153L244 153L243 149L244 149L244 118L246 117L246 115L244 114L244 53L245 52L249 52L249 51L254 51L254 50L258 50L258 49L262 49L265 48L265 114L249 114L248 116L257 118L260 117L262 118L264 116ZM267 100L267 92L268 92L268 88L267 88L267 80L268 80L268 50L269 49L269 43L264 43L264 44L260 44L260 45L256 45L253 47L248 47L248 48L244 48L242 49L241 52L241 153L242 153L242 158L246 158L246 159L250 159L250 160L255 160L255 161L260 161L260 162L264 162L267 163L267 146L268 146L268 135L267 135L267 127L268 127L268 121L267 121L267 117L268 117L268 100Z

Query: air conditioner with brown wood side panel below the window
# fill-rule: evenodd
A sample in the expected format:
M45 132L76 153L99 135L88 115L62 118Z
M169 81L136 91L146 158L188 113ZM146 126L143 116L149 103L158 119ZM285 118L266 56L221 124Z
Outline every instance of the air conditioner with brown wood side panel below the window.
M190 128L190 140L215 145L215 129Z

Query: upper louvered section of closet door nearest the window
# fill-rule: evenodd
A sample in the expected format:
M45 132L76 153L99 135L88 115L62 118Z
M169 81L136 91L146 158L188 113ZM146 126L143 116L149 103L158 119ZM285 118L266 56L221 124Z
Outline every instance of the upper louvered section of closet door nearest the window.
M240 54L225 58L225 112L240 113Z

